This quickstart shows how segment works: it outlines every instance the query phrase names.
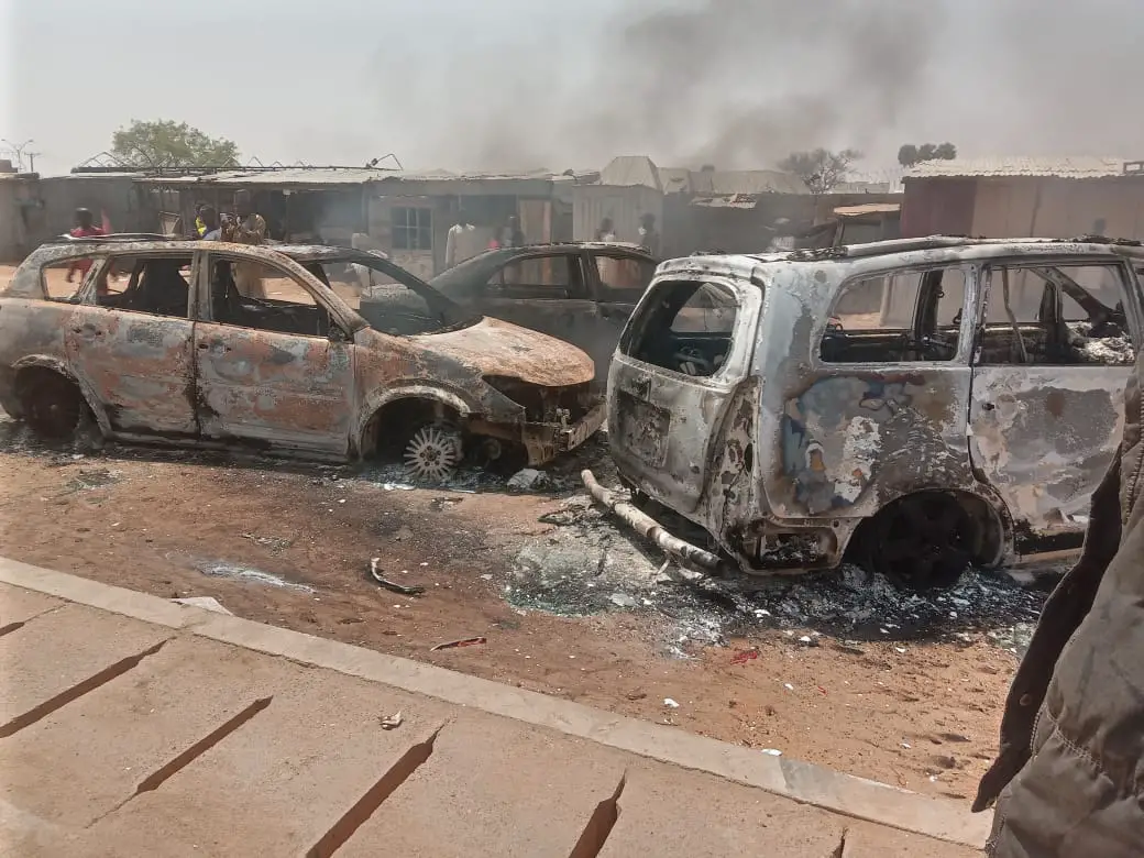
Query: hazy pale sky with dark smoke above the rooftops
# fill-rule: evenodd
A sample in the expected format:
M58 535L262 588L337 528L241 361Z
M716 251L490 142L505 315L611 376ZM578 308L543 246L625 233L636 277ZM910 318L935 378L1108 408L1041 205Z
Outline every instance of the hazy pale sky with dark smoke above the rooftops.
M411 169L1144 158L1141 0L0 0L0 138L43 173L133 119Z

